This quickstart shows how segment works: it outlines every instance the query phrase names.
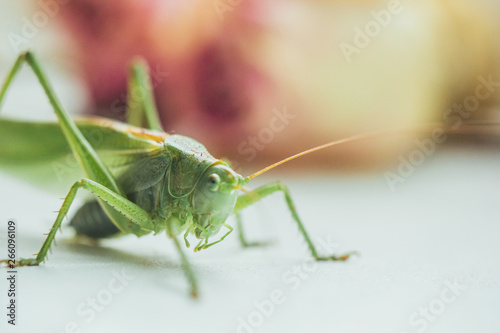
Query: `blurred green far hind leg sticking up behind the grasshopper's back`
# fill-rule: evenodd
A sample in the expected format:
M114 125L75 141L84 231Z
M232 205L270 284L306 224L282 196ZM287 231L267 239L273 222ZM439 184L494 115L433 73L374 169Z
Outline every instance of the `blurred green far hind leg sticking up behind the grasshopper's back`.
M133 61L128 78L127 122L134 126L163 131L156 108L148 65L142 59Z

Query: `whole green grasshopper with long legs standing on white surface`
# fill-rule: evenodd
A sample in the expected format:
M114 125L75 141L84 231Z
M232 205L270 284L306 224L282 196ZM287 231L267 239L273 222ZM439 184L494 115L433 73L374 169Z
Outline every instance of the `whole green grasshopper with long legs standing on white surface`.
M194 235L199 239L194 251L207 249L223 241L233 231L226 220L235 215L242 245L261 245L246 241L240 212L275 192L284 195L292 218L314 259L343 261L349 258L350 253L339 256L318 254L297 214L287 187L280 182L263 185L252 191L244 189L251 179L271 168L304 154L346 142L345 140L310 149L251 176L243 177L228 163L210 155L199 142L163 131L152 95L148 67L144 61L136 60L131 66L128 79L127 124L98 117L73 121L55 95L37 57L30 51L19 55L8 72L0 91L0 103L24 63L31 67L40 81L58 123L0 119L0 131L7 133L6 135L8 131L26 134L36 131L38 137L46 140L41 143L25 141L20 145L16 144L15 148L4 144L0 150L0 162L36 163L37 159L50 158L57 154L61 147L69 146L85 178L71 186L35 258L0 262L15 266L35 266L43 263L80 189L90 191L94 199L84 204L70 221L77 235L101 239L125 234L140 237L166 232L179 253L193 297L198 295L198 285L183 252L180 236L183 236L187 247L190 245L188 236ZM146 128L140 127L143 124ZM104 139L93 145L85 133L95 130L103 133ZM243 193L240 194L240 191ZM218 240L209 242L222 227L228 231Z

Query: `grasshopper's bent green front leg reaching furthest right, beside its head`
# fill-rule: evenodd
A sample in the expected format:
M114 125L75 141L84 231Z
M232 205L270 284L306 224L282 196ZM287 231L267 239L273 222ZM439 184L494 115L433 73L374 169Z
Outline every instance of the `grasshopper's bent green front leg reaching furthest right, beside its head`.
M263 199L264 197L268 196L269 194L272 194L274 192L283 192L285 195L285 200L288 205L288 209L292 213L292 217L297 223L299 227L300 233L304 236L307 245L309 246L309 250L311 251L312 256L316 260L346 260L349 258L350 253L341 255L341 256L320 256L318 255L318 252L316 251L316 247L314 246L313 242L311 241L311 238L307 234L306 229L304 228L304 225L300 221L299 215L297 214L297 211L295 210L295 205L293 204L292 198L290 196L290 193L288 191L288 188L281 184L280 182L268 184L268 185L263 185L255 190L253 190L251 193L248 194L243 194L238 197L238 200L236 201L236 206L234 208L234 213L237 214L240 210L242 210L245 207L250 206L251 204Z

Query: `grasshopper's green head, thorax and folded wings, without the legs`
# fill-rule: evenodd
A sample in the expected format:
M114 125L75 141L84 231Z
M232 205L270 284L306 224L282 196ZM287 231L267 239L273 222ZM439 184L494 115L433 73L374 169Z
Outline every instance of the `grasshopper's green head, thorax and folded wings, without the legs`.
M164 231L170 224L176 235L192 230L196 237L205 239L217 233L233 212L236 189L228 188L219 192L217 198L209 198L205 183L197 185L211 166L213 172L208 174L221 173L221 178L232 179L230 186L242 184L243 178L225 162L210 155L199 142L98 117L75 124L126 198L159 222L154 230L145 230L134 223L113 221L122 233L142 236ZM30 177L40 185L42 181L54 184L58 179L74 183L81 178L79 168L68 166L71 150L57 123L0 119L0 140L14 143L0 147L2 169ZM106 222L103 221L103 229L107 227ZM85 230L85 226L75 227Z

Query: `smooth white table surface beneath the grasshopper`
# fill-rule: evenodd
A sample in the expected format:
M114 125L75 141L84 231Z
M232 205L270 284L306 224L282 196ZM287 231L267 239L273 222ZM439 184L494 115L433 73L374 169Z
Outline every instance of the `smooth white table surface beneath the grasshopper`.
M311 264L275 195L244 214L249 237L274 245L242 249L232 235L210 250L188 253L199 280L198 300L188 296L165 235L90 247L73 244L66 227L46 264L19 268L18 326L8 331L64 332L74 322L81 332L498 332L499 169L498 151L445 149L395 192L377 173L269 175L260 181L279 178L290 186L313 239L361 256ZM17 179L2 176L0 184L2 226L16 219L18 250L29 256L60 201ZM310 273L294 270L304 265ZM79 315L78 309L88 309L89 297L108 301L113 274L122 271L133 279L87 322L90 314ZM5 304L6 281L0 281ZM456 297L449 285L458 288ZM268 317L259 315L255 303L269 300L274 290L284 301ZM425 320L419 311L429 307L432 320ZM257 327L238 331L239 318L249 317Z

